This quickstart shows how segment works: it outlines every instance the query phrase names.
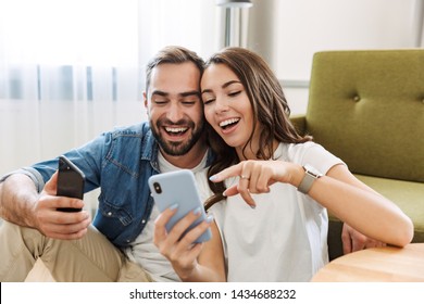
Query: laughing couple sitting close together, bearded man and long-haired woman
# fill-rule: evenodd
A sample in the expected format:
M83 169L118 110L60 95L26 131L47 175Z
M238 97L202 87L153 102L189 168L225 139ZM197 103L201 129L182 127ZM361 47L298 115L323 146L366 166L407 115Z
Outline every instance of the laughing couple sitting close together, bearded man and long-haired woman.
M296 132L255 53L228 48L204 64L165 48L147 66L144 98L149 123L65 153L85 191L101 189L93 225L86 211L57 211L84 204L55 197L57 160L2 177L1 281L25 279L38 257L60 281L308 281L328 259L326 210L369 243L411 241L410 218ZM178 168L194 170L214 218L184 238L198 215L166 232L175 210L160 214L147 185ZM209 228L212 239L194 245Z

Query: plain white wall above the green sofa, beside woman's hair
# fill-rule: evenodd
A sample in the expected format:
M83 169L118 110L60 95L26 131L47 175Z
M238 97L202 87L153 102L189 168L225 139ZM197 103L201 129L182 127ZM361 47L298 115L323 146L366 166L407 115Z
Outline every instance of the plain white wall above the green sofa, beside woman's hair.
M292 113L307 109L313 53L322 50L416 47L422 0L253 0L249 48L260 52L285 87Z

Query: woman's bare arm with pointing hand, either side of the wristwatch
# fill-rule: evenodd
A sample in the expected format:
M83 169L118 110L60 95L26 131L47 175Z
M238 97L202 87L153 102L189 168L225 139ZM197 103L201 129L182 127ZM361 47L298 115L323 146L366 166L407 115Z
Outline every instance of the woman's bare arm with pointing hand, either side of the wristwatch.
M298 164L283 161L244 161L222 170L211 180L221 181L234 176L240 176L240 180L225 194L240 193L254 207L251 193L269 192L270 186L275 182L286 182L297 188L304 169ZM326 176L316 179L308 195L370 238L399 246L412 240L411 219L395 203L358 180L345 165L336 165Z

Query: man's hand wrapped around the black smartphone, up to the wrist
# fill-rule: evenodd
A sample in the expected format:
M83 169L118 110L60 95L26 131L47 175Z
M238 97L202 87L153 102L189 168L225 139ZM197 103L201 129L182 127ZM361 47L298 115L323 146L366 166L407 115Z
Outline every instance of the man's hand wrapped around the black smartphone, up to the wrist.
M91 223L90 215L86 211L72 213L58 211L58 207L82 208L84 202L78 199L57 197L57 188L58 173L46 183L34 205L35 228L53 239L80 239Z

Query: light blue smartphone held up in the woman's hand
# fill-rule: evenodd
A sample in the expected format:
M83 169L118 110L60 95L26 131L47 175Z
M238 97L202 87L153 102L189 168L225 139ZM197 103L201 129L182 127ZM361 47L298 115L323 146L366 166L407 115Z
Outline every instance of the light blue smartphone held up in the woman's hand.
M197 208L200 210L200 217L188 227L184 235L207 218L203 204L196 187L195 175L191 170L179 169L153 175L149 178L149 188L160 212L163 212L172 205L178 205L177 212L165 225L166 231L171 231L172 227L174 227L179 219ZM208 229L195 242L205 242L211 239L211 229Z

